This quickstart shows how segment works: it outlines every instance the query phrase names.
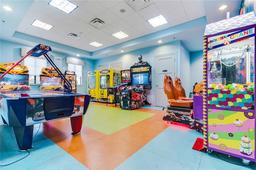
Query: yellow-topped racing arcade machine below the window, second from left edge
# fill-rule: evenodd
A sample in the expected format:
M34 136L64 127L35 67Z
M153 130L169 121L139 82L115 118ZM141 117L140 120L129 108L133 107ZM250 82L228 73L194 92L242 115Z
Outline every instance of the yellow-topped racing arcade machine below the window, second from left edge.
M40 91L63 91L63 81L53 67L42 68L40 75Z

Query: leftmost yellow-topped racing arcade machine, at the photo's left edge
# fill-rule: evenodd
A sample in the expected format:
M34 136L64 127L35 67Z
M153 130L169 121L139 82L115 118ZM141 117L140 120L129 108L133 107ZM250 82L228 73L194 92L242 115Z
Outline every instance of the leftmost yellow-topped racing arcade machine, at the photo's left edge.
M10 69L15 63L1 63L0 75ZM16 65L0 81L0 91L31 91L29 70L25 65Z

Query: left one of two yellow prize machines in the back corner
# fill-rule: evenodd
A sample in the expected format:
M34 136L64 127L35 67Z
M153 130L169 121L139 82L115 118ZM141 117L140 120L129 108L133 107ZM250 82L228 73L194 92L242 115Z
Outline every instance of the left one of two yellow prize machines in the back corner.
M88 94L91 101L99 101L99 71L88 71Z

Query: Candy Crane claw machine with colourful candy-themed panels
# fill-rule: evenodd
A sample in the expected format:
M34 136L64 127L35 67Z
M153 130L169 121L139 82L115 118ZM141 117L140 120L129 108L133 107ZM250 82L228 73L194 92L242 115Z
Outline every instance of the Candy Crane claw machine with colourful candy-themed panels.
M206 25L204 33L204 147L241 158L255 154L254 12Z

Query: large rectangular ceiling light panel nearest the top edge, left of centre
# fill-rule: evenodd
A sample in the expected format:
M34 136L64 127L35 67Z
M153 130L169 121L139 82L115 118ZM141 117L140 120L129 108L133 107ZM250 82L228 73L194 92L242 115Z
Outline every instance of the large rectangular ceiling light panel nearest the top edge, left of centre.
M68 14L70 14L70 12L74 11L78 7L75 4L69 2L68 0L50 0L48 4Z

